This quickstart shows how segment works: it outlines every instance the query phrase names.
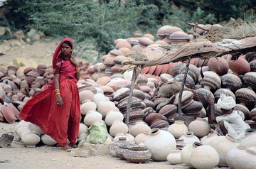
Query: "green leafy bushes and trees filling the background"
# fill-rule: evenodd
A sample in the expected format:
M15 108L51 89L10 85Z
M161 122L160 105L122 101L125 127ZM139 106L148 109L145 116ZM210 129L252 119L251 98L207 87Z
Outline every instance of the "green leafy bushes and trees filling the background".
M255 6L256 0L7 0L0 7L0 26L70 37L79 51L97 50L100 58L114 48L117 38L132 37L135 32L155 36L164 25L186 31L186 22L213 24L231 17L248 18ZM0 40L12 36L6 33Z

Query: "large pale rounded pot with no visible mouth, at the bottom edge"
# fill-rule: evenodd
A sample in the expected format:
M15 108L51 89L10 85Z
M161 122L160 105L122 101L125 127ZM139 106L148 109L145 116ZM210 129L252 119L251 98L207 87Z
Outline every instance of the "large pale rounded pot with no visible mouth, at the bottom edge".
M198 146L191 153L189 162L197 169L212 169L218 165L220 157L211 146Z

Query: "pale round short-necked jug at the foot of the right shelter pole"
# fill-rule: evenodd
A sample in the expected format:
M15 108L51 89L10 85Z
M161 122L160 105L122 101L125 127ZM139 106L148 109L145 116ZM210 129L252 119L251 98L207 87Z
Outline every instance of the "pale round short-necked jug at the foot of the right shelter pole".
M188 130L192 131L195 136L203 137L210 133L210 126L206 119L196 118L188 125Z

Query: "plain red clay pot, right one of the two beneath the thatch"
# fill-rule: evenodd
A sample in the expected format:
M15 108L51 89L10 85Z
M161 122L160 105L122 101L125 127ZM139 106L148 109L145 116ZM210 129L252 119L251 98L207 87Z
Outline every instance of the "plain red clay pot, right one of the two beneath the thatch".
M228 62L230 70L233 71L234 75L244 75L247 72L250 72L250 64L244 58L238 58L238 60L230 60Z

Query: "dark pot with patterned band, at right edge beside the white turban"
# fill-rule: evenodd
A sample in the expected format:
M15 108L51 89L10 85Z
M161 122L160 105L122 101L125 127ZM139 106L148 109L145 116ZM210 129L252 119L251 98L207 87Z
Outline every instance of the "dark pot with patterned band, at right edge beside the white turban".
M252 89L241 88L235 92L235 97L237 98L237 102L245 105L249 109L255 106L256 102L256 94Z

